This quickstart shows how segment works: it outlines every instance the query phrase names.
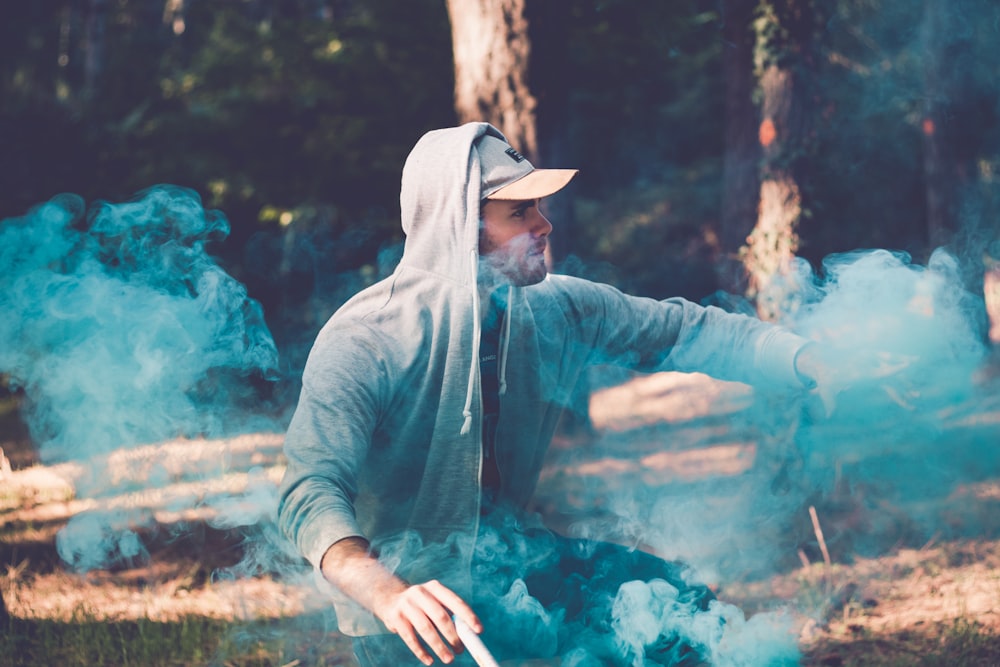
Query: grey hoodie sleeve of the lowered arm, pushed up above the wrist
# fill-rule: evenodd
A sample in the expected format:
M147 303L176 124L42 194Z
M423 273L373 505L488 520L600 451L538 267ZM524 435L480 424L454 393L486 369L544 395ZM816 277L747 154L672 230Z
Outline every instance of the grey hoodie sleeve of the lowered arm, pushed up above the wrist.
M330 545L364 537L354 500L381 414L387 364L362 333L320 336L285 436L278 525L316 567Z

